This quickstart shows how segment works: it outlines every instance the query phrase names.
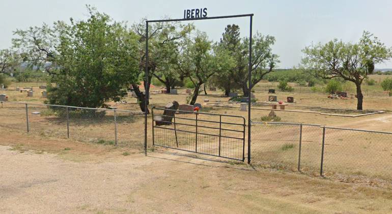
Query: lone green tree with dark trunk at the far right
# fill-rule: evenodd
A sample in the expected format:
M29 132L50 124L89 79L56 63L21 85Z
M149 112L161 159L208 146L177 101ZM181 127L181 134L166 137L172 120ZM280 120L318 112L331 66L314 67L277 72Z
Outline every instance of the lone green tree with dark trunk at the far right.
M362 110L361 84L374 66L392 57L392 51L377 37L364 31L358 43L344 43L334 39L326 44L305 47L302 65L314 76L324 79L340 77L355 83L357 109Z

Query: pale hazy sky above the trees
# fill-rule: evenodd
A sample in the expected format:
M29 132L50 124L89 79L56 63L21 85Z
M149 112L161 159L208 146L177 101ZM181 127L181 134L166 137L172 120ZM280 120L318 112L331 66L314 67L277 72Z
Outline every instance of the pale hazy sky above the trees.
M114 20L139 22L142 18L183 18L185 9L207 8L208 16L253 13L253 33L276 39L273 52L279 55L278 68L292 68L300 63L305 46L326 43L333 38L357 42L368 30L386 46L392 46L392 1L131 1L131 0L0 0L0 49L9 48L13 31L51 24L70 17L86 19L86 5L110 15ZM195 26L211 40L219 41L227 24L238 24L241 37L249 35L249 18L197 20ZM392 60L376 65L392 68Z

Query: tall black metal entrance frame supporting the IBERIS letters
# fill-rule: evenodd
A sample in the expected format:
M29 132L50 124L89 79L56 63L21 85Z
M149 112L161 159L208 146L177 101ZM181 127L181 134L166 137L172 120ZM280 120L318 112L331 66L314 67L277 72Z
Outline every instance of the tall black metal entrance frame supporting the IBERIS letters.
M200 17L200 18L192 18L192 19L159 19L159 20L146 20L146 70L145 70L145 82L144 84L146 96L145 96L145 149L147 152L147 101L149 100L149 90L150 85L148 84L148 23L152 22L172 22L172 21L193 21L193 20L205 20L205 19L226 19L226 18L238 18L238 17L249 17L249 62L248 62L248 84L249 84L249 91L251 89L251 58L252 58L252 20L253 20L253 13L252 14L241 14L241 15L231 15L231 16L213 16L213 17ZM250 92L249 92L250 93ZM250 106L251 106L251 99L248 99L248 164L250 164Z

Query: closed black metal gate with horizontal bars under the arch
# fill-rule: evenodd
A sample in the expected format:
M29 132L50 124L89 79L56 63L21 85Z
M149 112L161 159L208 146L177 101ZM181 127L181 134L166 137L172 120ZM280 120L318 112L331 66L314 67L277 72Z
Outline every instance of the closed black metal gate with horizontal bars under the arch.
M242 116L155 107L151 114L153 145L239 161L245 159Z

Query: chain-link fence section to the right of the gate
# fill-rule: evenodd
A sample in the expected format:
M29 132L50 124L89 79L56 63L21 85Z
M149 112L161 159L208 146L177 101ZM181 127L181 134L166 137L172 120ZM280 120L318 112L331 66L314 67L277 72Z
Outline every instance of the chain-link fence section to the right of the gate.
M391 132L255 122L251 138L254 164L392 180Z

